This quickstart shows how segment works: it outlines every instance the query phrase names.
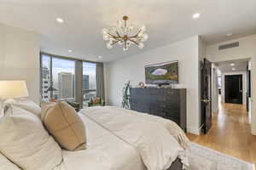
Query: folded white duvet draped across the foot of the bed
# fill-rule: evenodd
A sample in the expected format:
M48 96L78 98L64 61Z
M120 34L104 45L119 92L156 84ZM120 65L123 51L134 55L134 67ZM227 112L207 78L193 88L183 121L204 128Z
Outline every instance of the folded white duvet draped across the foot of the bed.
M133 146L148 170L166 170L183 152L165 127L129 111L105 106L87 108L81 113Z

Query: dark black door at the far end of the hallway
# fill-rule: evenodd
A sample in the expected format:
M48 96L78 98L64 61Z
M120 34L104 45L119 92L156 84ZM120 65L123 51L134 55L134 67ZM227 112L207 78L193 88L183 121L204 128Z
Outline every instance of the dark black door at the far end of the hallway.
M242 104L242 75L225 75L225 103Z

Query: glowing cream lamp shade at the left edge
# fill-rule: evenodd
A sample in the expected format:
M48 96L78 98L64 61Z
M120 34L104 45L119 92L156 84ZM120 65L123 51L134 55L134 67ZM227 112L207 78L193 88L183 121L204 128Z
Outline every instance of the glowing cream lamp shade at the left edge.
M28 97L25 81L0 81L0 99Z

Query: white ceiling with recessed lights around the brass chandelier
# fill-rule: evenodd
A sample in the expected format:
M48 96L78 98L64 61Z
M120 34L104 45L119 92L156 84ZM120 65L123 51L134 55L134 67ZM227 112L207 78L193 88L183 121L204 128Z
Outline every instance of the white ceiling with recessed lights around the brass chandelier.
M0 22L40 33L44 52L107 62L195 35L212 44L254 34L255 8L255 0L0 0ZM197 12L201 18L193 20ZM102 28L124 14L147 26L143 50L106 48ZM229 32L234 35L225 37Z

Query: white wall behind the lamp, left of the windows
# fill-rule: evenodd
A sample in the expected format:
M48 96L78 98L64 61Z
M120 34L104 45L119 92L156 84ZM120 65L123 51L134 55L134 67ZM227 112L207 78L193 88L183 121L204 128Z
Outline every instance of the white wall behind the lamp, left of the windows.
M0 80L26 80L30 99L39 103L39 36L0 24Z

